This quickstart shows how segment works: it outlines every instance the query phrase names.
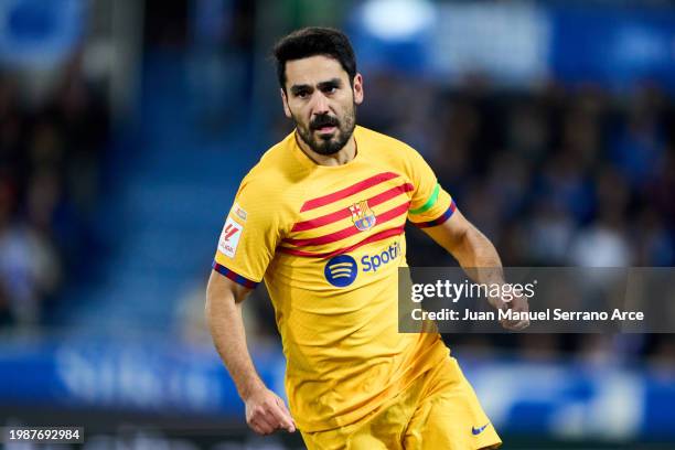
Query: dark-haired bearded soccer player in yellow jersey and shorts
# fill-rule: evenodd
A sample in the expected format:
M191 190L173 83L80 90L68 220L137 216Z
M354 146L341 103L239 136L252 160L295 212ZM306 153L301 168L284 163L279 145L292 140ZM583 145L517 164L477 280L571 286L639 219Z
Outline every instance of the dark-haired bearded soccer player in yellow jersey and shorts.
M364 85L343 33L296 31L275 56L296 129L242 181L206 300L247 424L261 435L298 428L310 449L499 447L440 335L398 333L397 323L406 219L464 268L501 267L494 246L414 149L356 126ZM290 413L246 346L242 302L262 279L287 358ZM493 304L505 307L500 302ZM510 308L527 310L527 302L515 299Z

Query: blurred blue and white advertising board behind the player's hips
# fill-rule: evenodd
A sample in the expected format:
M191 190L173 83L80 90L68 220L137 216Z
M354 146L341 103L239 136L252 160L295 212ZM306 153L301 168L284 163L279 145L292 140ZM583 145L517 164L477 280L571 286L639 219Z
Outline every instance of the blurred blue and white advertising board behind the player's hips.
M243 422L243 404L215 352L116 341L6 343L0 405L11 410L106 411ZM615 363L456 356L495 426L557 439L674 439L675 374ZM265 382L282 393L280 351L258 352ZM93 416L94 417L94 416Z

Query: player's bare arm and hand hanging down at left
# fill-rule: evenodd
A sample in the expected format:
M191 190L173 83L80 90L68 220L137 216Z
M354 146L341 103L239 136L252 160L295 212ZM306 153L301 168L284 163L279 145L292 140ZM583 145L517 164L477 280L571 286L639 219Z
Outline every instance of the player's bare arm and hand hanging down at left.
M283 400L269 390L253 364L242 318L247 289L212 271L206 288L206 320L221 358L246 404L246 422L258 433L296 430Z

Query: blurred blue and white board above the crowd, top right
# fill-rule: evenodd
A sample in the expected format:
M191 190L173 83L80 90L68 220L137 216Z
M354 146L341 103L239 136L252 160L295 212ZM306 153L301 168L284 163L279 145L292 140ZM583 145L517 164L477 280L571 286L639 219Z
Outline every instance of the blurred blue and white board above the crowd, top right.
M450 85L478 74L512 87L649 79L675 89L672 7L373 0L354 11L350 33L366 71Z

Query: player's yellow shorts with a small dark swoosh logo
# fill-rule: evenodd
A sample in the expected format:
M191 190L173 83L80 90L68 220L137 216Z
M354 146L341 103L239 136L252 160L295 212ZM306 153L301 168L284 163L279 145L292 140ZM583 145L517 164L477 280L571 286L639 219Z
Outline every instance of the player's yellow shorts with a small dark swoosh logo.
M302 432L302 438L310 450L474 450L502 444L451 356L363 419Z

